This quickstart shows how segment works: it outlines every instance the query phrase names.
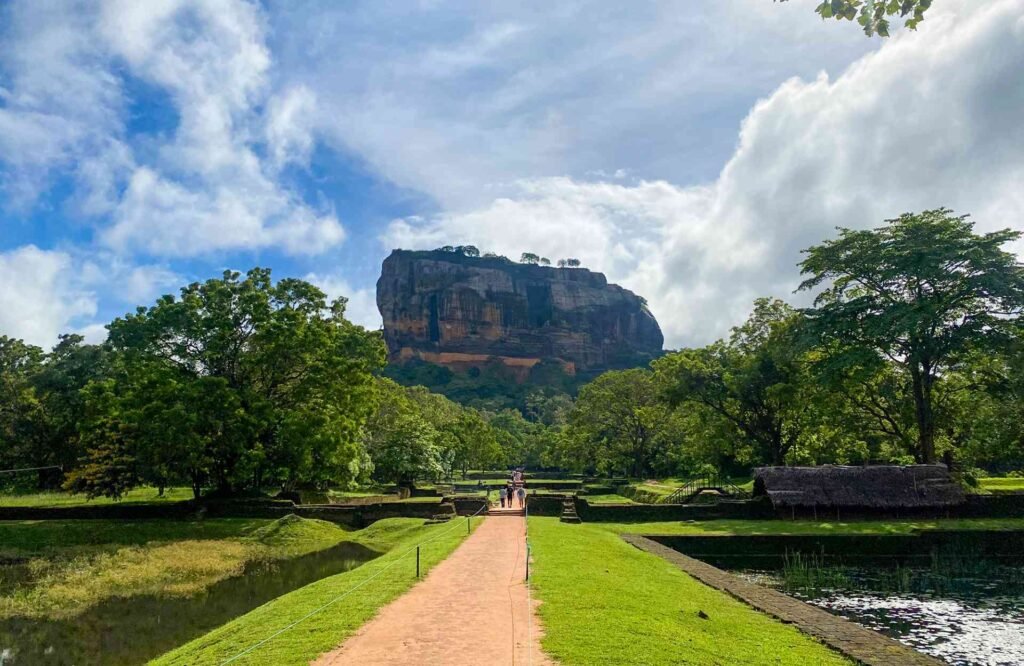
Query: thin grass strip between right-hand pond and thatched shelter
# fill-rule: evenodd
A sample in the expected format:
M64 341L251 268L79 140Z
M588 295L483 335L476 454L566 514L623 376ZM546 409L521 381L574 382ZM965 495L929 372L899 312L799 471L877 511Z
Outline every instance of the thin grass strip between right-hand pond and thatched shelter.
M1024 530L1024 518L940 518L924 521L702 521L590 523L612 534L909 534L914 530Z

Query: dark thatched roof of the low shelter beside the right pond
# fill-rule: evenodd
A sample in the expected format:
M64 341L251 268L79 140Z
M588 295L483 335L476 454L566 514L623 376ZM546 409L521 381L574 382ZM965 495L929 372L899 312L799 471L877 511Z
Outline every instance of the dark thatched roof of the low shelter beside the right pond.
M962 504L945 465L759 467L754 496L775 507L938 508Z

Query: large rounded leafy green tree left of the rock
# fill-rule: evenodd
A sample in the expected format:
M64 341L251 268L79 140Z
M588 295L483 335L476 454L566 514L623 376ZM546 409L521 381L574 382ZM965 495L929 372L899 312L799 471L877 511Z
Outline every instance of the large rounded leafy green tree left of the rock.
M82 432L93 452L87 465L103 464L97 438L115 423L135 477L184 477L197 493L358 474L359 432L384 346L379 333L345 320L344 307L308 283L273 283L269 270L254 268L189 285L179 299L164 296L116 320L109 344L119 372L108 394L91 394L110 405L87 406L96 415Z

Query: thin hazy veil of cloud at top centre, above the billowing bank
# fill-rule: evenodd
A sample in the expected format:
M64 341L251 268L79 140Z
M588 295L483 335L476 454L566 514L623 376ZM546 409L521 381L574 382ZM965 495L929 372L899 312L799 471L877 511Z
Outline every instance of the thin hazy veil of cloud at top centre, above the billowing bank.
M813 76L878 45L801 4L297 0L270 11L275 57L315 90L324 139L465 209L553 174L711 179L779 71Z

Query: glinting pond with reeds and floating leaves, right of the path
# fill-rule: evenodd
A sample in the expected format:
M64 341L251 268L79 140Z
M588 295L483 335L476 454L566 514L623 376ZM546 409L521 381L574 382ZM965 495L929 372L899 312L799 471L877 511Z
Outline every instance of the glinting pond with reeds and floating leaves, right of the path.
M957 666L1024 664L1024 569L734 572Z

